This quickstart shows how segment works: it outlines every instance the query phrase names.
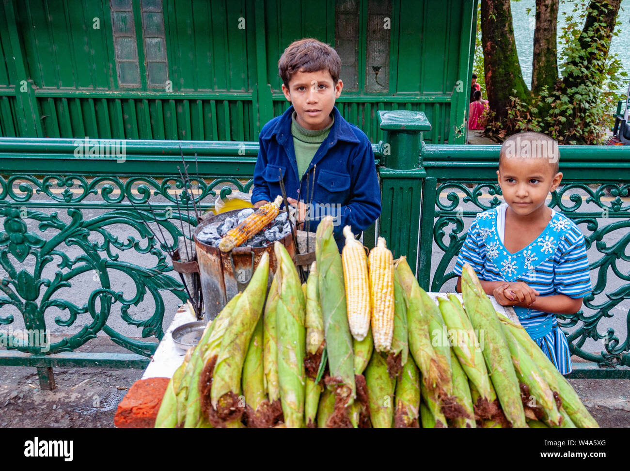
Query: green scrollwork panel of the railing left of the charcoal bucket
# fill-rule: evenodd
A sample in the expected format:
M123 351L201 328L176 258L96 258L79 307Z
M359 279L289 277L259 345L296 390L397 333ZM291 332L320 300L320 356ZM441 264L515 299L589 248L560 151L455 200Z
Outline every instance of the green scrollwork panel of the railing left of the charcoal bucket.
M6 326L16 321L10 312L18 312L28 331L49 332L51 323L55 331L67 329L68 335L49 343L46 353L72 351L103 332L130 351L151 356L154 341L121 332L108 322L110 316L116 310L126 324L141 329L142 338L161 339L164 292L181 302L187 298L167 254L197 224L193 198L194 205L205 210L214 206L217 193L248 192L253 184L236 178L190 180L185 189L180 176L0 176L0 344L42 353L45 338L37 345L9 338ZM101 213L86 217L94 208ZM163 234L168 247L145 222ZM141 254L143 263L125 259L130 251ZM125 276L131 283L120 286ZM96 288L85 302L68 295L68 290L85 291L90 279ZM148 315L141 315L146 310L139 309L143 302L152 304ZM51 314L54 311L61 314Z

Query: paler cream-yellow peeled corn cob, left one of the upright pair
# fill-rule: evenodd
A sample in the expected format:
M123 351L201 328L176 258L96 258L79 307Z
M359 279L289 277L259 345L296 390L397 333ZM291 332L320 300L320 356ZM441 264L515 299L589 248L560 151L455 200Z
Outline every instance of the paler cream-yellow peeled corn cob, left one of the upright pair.
M350 332L357 341L367 336L370 328L370 285L367 274L367 256L363 244L355 239L352 229L343 228L346 237L341 251L343 280L346 288L346 307Z

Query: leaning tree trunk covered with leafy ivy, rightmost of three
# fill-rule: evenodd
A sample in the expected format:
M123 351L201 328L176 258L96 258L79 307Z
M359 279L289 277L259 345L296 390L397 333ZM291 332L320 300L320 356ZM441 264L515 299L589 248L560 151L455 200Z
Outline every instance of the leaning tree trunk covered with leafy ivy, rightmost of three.
M570 89L580 85L583 80L579 72L579 69L592 69L601 67L597 64L597 58L608 57L610 49L610 40L612 40L612 31L615 29L615 23L617 21L617 13L619 13L619 7L621 6L621 0L592 0L588 5L587 19L582 28L582 34L580 36L580 48L584 54L581 60L575 60L571 64L567 64L567 70L570 73L566 74L563 79L563 85L566 89ZM599 44L597 50L589 51L588 48L593 44ZM575 71L575 72L571 72Z

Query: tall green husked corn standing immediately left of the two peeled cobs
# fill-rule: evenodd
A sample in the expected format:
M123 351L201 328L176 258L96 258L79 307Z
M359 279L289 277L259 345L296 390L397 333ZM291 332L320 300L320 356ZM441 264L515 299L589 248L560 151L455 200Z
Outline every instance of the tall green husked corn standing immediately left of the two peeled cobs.
M341 255L333 237L333 218L324 217L315 239L318 271L319 306L324 318L324 337L331 381L340 398L340 407L352 404L357 395L352 334L348 324L346 292L343 284Z

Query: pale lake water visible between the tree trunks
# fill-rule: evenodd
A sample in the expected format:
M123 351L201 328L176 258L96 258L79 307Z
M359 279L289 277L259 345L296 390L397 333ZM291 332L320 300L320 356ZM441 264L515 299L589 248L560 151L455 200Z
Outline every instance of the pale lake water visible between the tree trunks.
M564 25L562 12L566 11L570 13L573 9L572 3L573 2L571 1L565 1L560 4L560 11L558 13L558 37L561 33L561 27ZM534 27L536 26L536 0L512 1L511 6L514 36L518 52L518 62L520 62L520 68L523 72L525 83L527 86L531 87L532 56L534 54ZM528 8L532 9L529 14L527 14ZM610 52L614 52L619 55L619 59L621 60L625 71L630 76L630 0L622 0L617 20L621 21L621 25L617 26L620 33L619 36L612 38ZM558 48L561 49L560 44L558 44ZM630 81L630 77L627 77L627 81ZM625 92L627 90L627 81L620 91Z

